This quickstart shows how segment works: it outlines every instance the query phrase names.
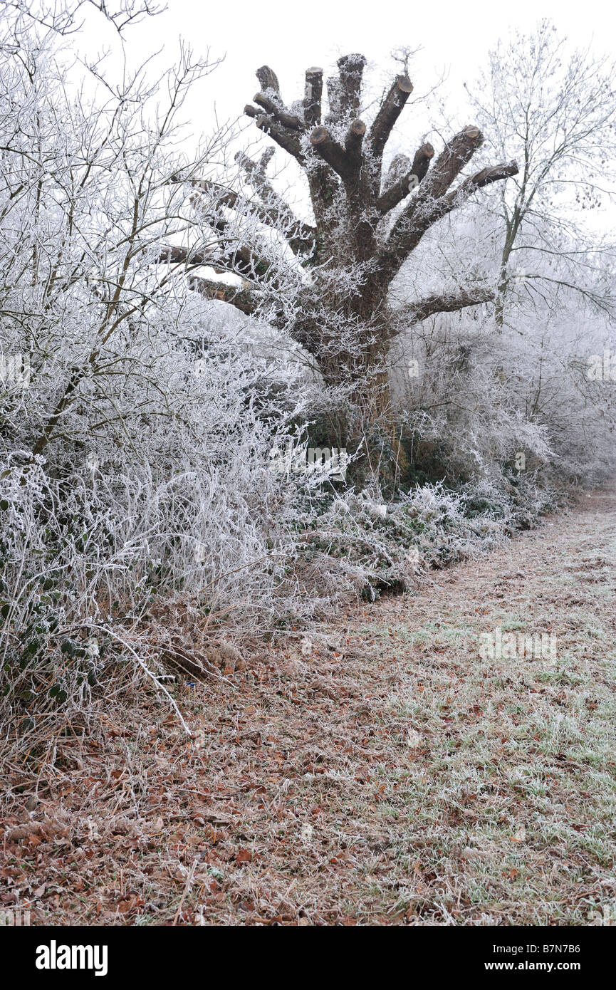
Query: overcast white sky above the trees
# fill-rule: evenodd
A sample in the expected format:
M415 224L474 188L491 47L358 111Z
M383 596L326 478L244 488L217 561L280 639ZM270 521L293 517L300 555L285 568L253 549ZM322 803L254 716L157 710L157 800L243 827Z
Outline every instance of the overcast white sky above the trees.
M458 94L463 99L462 82L472 80L498 38L516 28L531 30L542 17L550 17L575 46L590 46L597 54L614 47L616 8L599 0L432 0L423 6L409 0L168 0L165 13L129 29L127 42L134 56L163 49L166 63L173 60L180 37L196 54L210 49L213 57L224 56L191 99L195 131L200 131L208 129L214 104L219 120L242 113L258 89L257 66L265 63L275 70L291 102L303 93L307 66L327 68L351 51L389 75L393 49L421 47L412 73L416 92L445 71L445 92L456 104ZM88 48L105 36L100 17L92 27Z

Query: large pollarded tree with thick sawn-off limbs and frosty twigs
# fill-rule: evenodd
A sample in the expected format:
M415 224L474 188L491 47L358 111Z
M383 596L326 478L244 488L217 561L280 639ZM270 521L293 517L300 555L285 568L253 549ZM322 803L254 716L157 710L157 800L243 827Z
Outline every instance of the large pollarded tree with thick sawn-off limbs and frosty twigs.
M406 71L398 75L367 124L361 119L364 64L360 54L338 60L338 75L327 79L327 111L321 68L306 71L303 100L291 106L275 73L257 69L260 91L245 113L305 172L312 223L296 216L267 176L274 148L258 161L241 152L237 161L255 196L192 177L191 203L204 223L201 245L207 247L170 247L166 257L188 264L193 286L206 298L266 316L289 333L328 385L349 388L349 408L365 424L386 410L386 356L402 326L495 297L493 286L468 284L418 298L396 313L388 301L392 280L434 224L475 190L518 168L515 162L496 164L456 184L483 142L478 128L468 126L436 157L432 145L422 144L413 156L396 155L385 169L383 152L413 84ZM218 270L243 276L242 289L198 277L195 269L212 258Z

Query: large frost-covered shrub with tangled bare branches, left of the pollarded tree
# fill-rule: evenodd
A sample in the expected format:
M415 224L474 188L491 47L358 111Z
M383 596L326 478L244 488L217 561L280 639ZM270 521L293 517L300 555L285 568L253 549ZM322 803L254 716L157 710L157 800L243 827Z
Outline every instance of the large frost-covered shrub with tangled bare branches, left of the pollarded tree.
M162 80L168 113L140 72L104 99L93 81L86 104L53 32L7 36L0 690L13 739L87 712L116 661L171 703L169 670L209 669L223 620L254 633L310 612L291 561L326 478L268 470L272 447L305 442L297 365L248 347L160 252L186 231L177 114L207 66L183 52ZM9 373L18 354L27 380L21 359Z

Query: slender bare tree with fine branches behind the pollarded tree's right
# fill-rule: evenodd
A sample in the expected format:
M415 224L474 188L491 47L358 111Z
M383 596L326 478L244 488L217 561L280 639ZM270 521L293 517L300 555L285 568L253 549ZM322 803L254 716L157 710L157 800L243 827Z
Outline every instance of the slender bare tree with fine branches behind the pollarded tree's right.
M614 65L587 51L567 55L565 39L542 21L533 34L499 44L488 72L468 88L491 148L515 153L522 163L517 177L500 187L496 208L497 324L503 326L520 285L531 294L572 289L604 310L613 308L611 284L604 290L596 284L595 259L605 246L581 221L614 191Z

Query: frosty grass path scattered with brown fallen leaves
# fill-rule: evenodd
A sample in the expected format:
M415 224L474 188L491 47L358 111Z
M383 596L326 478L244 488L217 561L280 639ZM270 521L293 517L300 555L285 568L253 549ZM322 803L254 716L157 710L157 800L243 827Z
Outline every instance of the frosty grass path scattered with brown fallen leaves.
M609 488L182 688L192 741L153 698L119 714L10 809L2 903L44 924L616 919L615 549ZM556 655L481 656L497 628Z

